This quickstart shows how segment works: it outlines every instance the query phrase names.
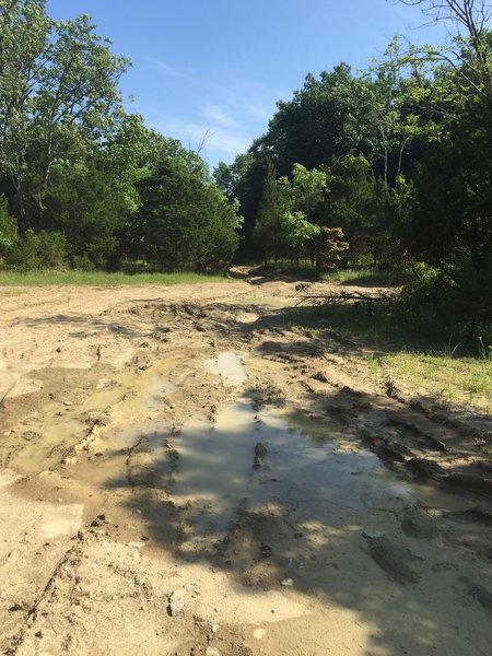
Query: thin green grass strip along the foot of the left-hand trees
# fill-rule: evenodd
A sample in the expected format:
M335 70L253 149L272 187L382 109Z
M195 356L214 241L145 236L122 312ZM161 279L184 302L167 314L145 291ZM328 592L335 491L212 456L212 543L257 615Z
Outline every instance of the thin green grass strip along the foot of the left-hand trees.
M200 273L105 273L102 271L0 271L0 286L43 286L54 284L119 286L138 284L196 284L227 282L223 276Z

